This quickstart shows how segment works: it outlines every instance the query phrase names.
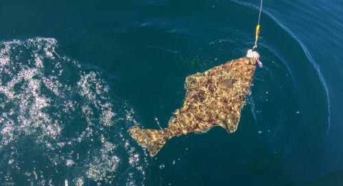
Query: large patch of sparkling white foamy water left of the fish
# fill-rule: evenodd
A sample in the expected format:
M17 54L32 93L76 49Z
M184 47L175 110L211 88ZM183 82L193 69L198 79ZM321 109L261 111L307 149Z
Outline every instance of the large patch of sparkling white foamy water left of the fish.
M0 47L0 157L7 164L1 170L6 183L143 185L146 153L126 132L139 124L137 116L111 92L104 72L82 68L51 38Z

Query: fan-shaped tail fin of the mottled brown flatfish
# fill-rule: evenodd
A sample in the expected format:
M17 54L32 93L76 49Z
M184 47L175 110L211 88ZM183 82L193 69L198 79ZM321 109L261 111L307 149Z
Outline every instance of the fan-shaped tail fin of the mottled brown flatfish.
M154 155L161 150L165 142L171 138L171 135L168 135L166 129L154 130L134 127L129 130L129 133L140 146L149 150L152 157L154 157Z

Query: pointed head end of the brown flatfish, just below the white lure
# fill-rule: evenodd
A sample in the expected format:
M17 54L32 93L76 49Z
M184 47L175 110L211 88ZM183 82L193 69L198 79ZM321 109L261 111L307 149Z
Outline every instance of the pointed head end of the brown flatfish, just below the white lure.
M235 70L237 70L244 79L251 81L254 77L256 60L252 57L241 57L235 60Z

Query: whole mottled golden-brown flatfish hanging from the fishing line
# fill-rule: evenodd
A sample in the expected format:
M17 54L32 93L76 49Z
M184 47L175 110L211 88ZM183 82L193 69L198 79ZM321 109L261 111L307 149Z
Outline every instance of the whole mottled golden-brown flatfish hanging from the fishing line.
M204 133L221 126L236 131L241 109L250 93L255 60L241 57L186 78L185 102L174 112L169 127L161 130L133 127L130 135L153 157L171 137Z

